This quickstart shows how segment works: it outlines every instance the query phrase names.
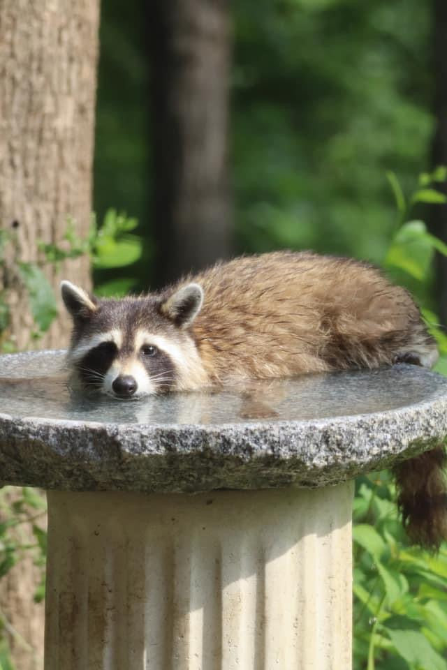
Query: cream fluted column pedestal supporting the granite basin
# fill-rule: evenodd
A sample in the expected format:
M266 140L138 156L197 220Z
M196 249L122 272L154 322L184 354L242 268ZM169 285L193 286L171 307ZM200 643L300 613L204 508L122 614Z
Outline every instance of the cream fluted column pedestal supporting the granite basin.
M349 670L350 483L48 493L45 670Z

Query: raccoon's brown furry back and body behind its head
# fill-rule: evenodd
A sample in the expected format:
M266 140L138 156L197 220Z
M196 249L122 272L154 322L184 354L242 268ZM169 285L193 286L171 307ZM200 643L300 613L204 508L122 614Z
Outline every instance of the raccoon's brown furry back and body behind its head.
M192 334L214 380L266 378L436 357L417 306L361 262L313 253L236 258L193 278Z

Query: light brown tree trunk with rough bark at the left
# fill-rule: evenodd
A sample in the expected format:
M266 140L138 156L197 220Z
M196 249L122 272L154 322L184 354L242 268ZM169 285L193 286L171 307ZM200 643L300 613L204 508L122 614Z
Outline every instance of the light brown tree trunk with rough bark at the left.
M0 226L13 235L0 290L6 291L17 348L29 345L33 324L15 260L38 260L40 240L60 242L68 216L79 235L89 228L98 4L0 0ZM62 276L87 286L90 281L87 258L45 272L54 288ZM63 316L38 345L66 345L68 328ZM20 489L7 496L13 501ZM23 535L21 541L27 542ZM28 542L36 542L31 528ZM17 670L42 667L43 605L34 604L35 590L31 558L0 580L2 618L18 633L8 636Z

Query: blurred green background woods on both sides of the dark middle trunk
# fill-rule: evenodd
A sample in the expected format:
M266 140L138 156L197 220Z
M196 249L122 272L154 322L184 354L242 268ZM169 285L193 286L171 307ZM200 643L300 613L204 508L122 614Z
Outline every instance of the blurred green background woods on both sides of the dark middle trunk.
M236 251L313 248L381 263L434 132L428 1L233 3ZM136 216L154 255L150 73L140 6L103 5L94 204ZM151 264L149 262L149 271ZM147 264L138 267L147 285Z

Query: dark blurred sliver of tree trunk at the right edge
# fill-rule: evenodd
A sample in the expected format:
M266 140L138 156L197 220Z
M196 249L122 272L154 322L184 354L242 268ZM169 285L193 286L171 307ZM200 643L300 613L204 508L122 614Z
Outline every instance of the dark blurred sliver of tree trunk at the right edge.
M433 0L434 114L436 130L432 146L432 165L447 165L447 2ZM439 188L439 186L437 186ZM447 195L447 184L443 185ZM433 234L447 242L447 204L430 207L429 225ZM447 258L437 254L437 297L439 319L447 325Z

